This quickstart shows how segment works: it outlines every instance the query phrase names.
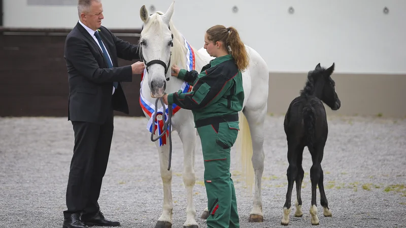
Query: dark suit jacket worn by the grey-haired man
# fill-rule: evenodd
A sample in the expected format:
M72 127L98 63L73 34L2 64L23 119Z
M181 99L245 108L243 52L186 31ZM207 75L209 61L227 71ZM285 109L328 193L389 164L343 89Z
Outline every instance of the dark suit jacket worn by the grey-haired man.
M130 65L118 67L118 58L140 59L138 45L131 45L101 26L99 31L113 68L108 68L103 52L78 22L66 36L64 58L69 81L68 120L104 123L111 107L128 111L127 100L120 82L132 81ZM119 82L113 92L113 82Z

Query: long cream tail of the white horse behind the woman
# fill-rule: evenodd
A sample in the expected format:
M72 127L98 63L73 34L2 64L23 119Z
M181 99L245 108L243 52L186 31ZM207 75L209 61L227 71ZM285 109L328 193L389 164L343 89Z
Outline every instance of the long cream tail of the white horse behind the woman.
M241 163L241 177L245 182L246 188L248 188L249 193L252 193L252 187L254 185L254 169L252 167L252 141L251 132L248 121L241 111L239 113L240 120L240 132L237 137L237 153L240 154Z

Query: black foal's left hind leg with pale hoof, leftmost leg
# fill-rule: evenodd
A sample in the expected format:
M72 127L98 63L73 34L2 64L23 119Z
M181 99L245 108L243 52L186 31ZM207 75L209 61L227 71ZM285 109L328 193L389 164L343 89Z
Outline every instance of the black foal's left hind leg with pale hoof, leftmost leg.
M289 162L289 167L286 172L287 178L288 178L288 191L286 193L286 201L285 205L283 206L283 217L281 224L282 225L288 225L289 224L289 214L291 211L290 208L290 201L292 199L292 190L293 190L293 182L296 180L297 177L297 161L301 156L298 156L298 154L303 153L303 147L298 146L296 142L292 142L293 140L288 139L288 162ZM300 151L301 149L301 151ZM301 164L301 161L300 161ZM301 167L301 166L300 166ZM297 182L296 182L297 183ZM299 185L300 186L300 185Z

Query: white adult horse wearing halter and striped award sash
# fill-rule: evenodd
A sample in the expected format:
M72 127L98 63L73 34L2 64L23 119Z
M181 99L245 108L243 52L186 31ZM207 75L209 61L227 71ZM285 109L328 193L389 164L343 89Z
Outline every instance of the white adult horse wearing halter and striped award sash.
M180 89L187 91L189 86L183 80L171 76L172 64L175 63L181 68L194 69L200 72L200 69L211 60L209 55L201 54L201 50L199 52L191 47L183 35L175 28L171 20L174 12L174 3L175 1L172 2L165 14L157 12L149 15L145 6L140 9L140 17L144 22L140 37L140 51L142 52L143 61L146 63L146 70L144 71L141 83L140 103L145 116L149 120L148 129L154 132L155 137L155 129L151 127L151 112L154 112L156 98L162 97L164 92L173 93ZM246 49L250 56L250 66L243 72L245 93L243 113L246 119L240 113L241 129L239 138L242 140L241 147L243 150L241 153L243 156L247 154L251 156L255 172L255 194L249 221L262 222L263 130L267 110L269 74L266 63L260 55L248 46L246 46ZM165 111L160 103L158 103L158 108L161 109L158 109L158 114L161 115L158 115L154 122L162 123L162 119L165 120L166 117ZM166 108L167 105L165 105ZM159 111L162 113L159 113ZM160 129L160 127L157 128L158 130ZM192 112L175 107L172 117L172 129L170 130L178 132L183 144L184 160L182 176L187 196L186 221L183 226L198 227L195 220L196 210L193 203L193 187L196 180L194 171L196 129L194 128ZM161 131L158 131L158 135ZM251 135L253 136L252 146L244 148L245 142L251 144ZM155 143L158 149L163 183L163 209L155 227L172 227L172 170L168 170L169 145L167 143L167 135L164 135L161 139L163 141L159 140ZM248 164L243 165L247 166ZM249 165L251 165L251 162ZM208 208L205 209L201 217L207 218L207 216Z

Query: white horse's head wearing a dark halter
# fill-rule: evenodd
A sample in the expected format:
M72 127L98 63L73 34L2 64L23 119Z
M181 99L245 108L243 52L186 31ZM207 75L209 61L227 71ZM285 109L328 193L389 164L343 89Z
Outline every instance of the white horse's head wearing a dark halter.
M152 97L162 97L166 89L166 78L171 74L171 47L173 35L170 21L174 3L166 13L149 15L145 6L141 7L140 17L144 22L140 37L141 57L148 72L148 85Z

